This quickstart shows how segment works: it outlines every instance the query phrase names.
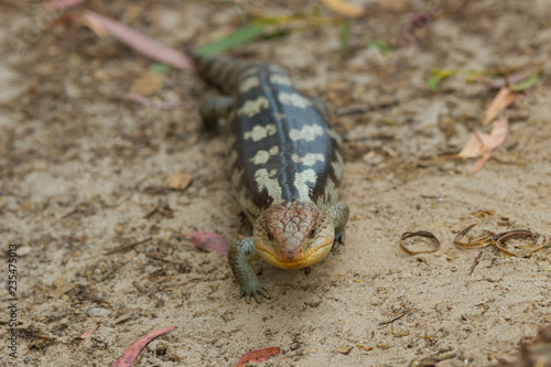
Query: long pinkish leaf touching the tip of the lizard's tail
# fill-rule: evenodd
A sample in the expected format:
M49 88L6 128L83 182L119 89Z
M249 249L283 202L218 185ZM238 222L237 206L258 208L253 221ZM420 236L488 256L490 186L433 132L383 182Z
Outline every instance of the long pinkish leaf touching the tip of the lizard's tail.
M181 69L195 71L192 61L183 53L163 46L153 39L150 39L111 18L100 15L93 11L86 11L83 14L83 22L90 26L99 35L101 32L98 32L97 28L101 28L104 32L108 32L120 42L154 61L169 64ZM94 26L90 24L94 24Z

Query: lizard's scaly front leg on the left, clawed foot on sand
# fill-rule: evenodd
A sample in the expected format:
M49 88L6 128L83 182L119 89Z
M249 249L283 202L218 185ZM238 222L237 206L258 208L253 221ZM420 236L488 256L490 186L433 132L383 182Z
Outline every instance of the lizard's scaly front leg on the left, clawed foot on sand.
M266 292L266 287L258 280L255 270L250 266L250 261L258 260L258 255L252 237L238 240L230 246L228 252L229 267L241 288L238 298L245 295L245 301L250 303L250 298L260 303L260 295L269 298Z

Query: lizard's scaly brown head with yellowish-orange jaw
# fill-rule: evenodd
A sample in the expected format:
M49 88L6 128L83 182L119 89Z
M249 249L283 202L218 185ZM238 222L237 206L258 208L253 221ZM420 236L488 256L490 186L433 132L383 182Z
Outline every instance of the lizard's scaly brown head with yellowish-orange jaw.
M252 236L262 259L278 268L300 269L329 253L335 229L317 205L290 202L266 209L255 222Z

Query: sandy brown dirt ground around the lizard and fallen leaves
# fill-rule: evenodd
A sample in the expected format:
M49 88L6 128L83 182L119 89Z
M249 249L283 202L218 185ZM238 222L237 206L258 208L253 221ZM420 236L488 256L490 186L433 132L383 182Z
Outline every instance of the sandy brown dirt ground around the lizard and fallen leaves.
M507 109L507 139L475 175L473 161L447 155L473 129L488 131L482 120L497 89L460 75L432 93L426 80L433 68L507 68L548 57L551 3L357 3L367 14L350 22L344 57L341 26L304 21L229 53L284 65L332 110L369 106L335 119L345 138L342 196L352 211L345 246L309 270L259 262L272 298L246 304L236 300L227 260L186 239L195 230L250 234L225 173L225 137L201 132L197 106L216 90L172 69L151 98L181 108L129 101L125 95L151 61L78 24L46 31L39 7L0 2L2 284L8 246L20 244L18 357L9 357L3 293L0 365L110 366L165 326L177 328L149 344L134 366L235 366L246 352L270 346L282 353L259 366L406 366L423 358L497 366L519 358L521 344L551 324L551 250L508 257L493 246L458 249L453 238L471 223L479 223L478 233L551 234L550 68ZM181 48L251 17L312 14L317 6L85 7ZM320 17L336 17L320 9ZM434 19L409 44L402 30L420 11ZM368 47L370 40L392 53ZM165 188L177 172L192 175L191 185ZM398 246L406 230L430 230L442 248L408 255Z

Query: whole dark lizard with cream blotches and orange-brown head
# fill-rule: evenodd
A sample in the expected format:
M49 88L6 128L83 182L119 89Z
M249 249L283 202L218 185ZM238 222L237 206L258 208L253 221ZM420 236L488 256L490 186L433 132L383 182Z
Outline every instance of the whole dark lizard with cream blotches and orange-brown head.
M226 95L201 112L213 129L228 117L233 188L253 225L229 249L239 296L268 298L250 262L283 269L320 262L344 239L348 207L338 203L341 138L325 105L296 91L278 65L194 55L199 74Z

